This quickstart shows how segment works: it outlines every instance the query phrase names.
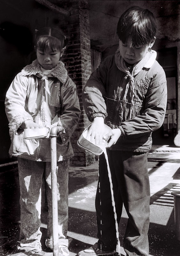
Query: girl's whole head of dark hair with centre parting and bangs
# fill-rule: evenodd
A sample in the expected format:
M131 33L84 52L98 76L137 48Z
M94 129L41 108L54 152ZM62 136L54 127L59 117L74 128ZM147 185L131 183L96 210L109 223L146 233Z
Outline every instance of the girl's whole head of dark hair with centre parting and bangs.
M67 45L67 38L59 28L44 27L36 30L34 43L35 48L44 52L46 49L51 51L61 51Z

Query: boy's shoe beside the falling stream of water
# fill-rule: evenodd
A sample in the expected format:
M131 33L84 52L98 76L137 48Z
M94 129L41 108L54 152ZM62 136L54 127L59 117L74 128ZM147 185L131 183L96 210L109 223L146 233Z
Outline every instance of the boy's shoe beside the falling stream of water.
M95 243L93 246L89 247L78 253L79 256L97 256L97 255L113 255L115 251L102 251L98 248L98 244Z

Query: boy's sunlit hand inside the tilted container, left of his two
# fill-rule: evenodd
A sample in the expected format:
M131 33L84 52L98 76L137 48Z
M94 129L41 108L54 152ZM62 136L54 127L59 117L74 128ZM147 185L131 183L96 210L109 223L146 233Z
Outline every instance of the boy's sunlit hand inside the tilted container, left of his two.
M96 145L102 144L104 132L104 118L95 117L87 132L87 139Z

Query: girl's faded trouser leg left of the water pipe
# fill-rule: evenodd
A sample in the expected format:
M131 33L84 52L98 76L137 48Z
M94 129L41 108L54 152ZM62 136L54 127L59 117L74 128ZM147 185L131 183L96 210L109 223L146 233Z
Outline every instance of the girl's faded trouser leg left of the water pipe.
M44 162L18 158L20 184L20 247L36 247L41 240L41 186Z

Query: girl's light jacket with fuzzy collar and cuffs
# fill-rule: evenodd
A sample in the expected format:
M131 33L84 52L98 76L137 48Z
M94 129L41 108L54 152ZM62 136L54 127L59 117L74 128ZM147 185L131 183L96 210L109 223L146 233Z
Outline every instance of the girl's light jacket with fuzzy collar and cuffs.
M34 60L17 74L6 93L5 111L10 122L9 153L12 156L50 162L50 139L26 140L20 125L32 120L41 127L51 127L57 124L58 117L65 133L57 138L57 161L74 156L70 138L80 116L76 85L61 61L49 74L47 93L40 65Z

